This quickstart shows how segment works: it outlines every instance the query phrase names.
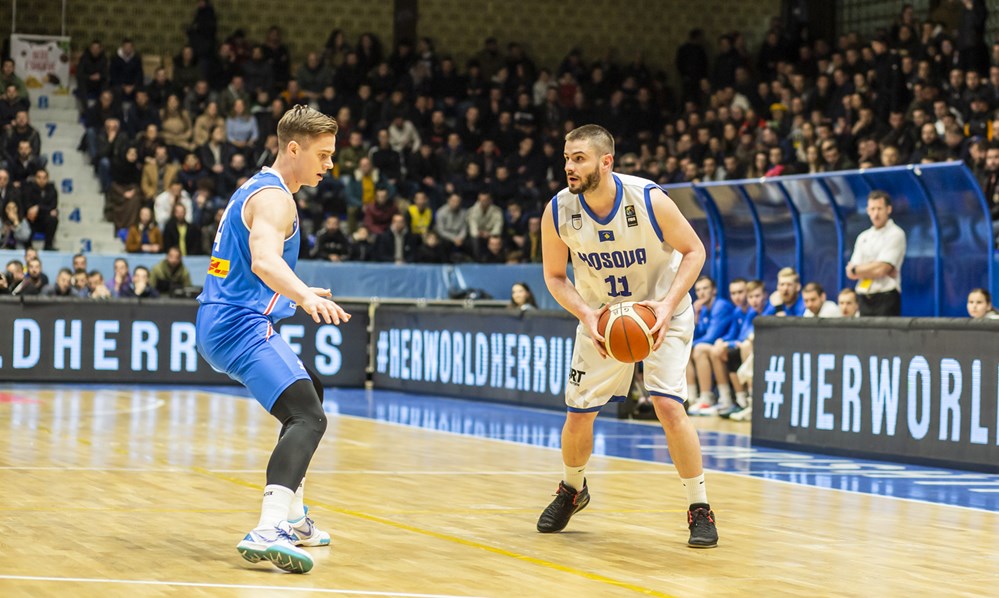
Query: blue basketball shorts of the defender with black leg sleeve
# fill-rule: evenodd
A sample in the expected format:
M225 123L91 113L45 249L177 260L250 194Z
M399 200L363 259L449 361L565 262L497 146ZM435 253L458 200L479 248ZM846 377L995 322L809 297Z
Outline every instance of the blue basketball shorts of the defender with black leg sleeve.
M296 380L311 380L267 316L245 307L207 303L195 324L198 353L213 368L245 386L270 413Z

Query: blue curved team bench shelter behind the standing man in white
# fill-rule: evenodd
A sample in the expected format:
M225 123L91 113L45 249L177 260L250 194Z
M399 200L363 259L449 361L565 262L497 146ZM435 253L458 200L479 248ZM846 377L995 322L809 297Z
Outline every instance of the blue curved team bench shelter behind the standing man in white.
M961 163L938 163L664 187L708 250L705 271L726 288L734 277L774 288L794 267L830 295L848 285L844 268L870 226L867 194L892 197L906 232L902 313L966 316L968 291L993 288L988 205Z

